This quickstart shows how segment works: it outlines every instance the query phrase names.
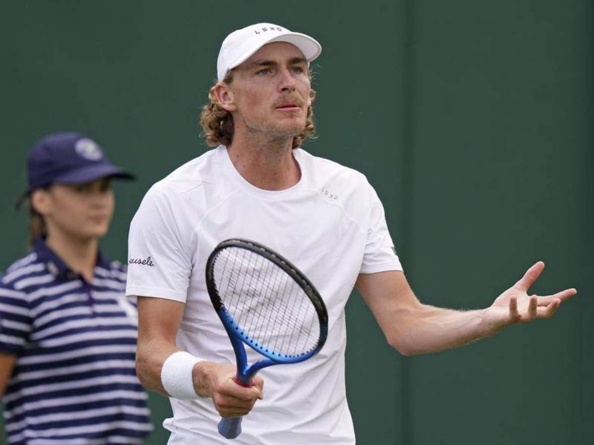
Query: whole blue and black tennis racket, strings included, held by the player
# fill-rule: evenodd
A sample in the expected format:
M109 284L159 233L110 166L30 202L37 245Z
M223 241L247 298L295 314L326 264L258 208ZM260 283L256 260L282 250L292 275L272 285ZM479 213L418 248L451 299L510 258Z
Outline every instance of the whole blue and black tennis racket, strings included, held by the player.
M216 246L206 263L206 286L233 345L235 382L242 386L261 368L307 360L326 341L328 312L314 285L261 244L231 239ZM264 358L248 366L244 343ZM241 417L221 419L219 433L239 436Z

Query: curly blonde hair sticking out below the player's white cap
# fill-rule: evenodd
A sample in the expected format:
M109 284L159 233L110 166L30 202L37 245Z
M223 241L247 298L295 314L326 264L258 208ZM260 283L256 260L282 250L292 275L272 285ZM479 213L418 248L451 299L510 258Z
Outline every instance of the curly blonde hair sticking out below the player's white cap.
M309 74L311 80L311 73ZM223 79L223 82L230 84L233 80L233 72L229 72L227 77ZM205 104L202 107L202 113L200 113L200 124L202 125L203 131L200 136L206 137L206 143L209 147L217 147L220 145L228 146L233 141L233 116L231 112L225 110L219 105L214 88L216 85L208 90L208 99L210 103ZM315 91L309 90L309 97L311 102L314 103ZM305 120L305 128L303 131L293 137L293 148L297 148L306 139L315 139L315 123L314 123L314 110L311 105L307 109L307 119Z

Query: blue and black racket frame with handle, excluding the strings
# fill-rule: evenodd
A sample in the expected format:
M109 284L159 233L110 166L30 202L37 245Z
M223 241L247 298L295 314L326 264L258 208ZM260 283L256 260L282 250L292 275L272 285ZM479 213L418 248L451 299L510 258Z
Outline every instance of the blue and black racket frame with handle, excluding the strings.
M258 255L264 256L264 258L270 260L279 266L279 268L283 269L283 271L290 275L299 284L299 286L301 286L301 288L305 291L305 294L307 294L309 297L309 300L311 300L313 303L320 322L320 339L318 340L315 348L298 355L277 354L276 352L269 351L267 348L259 345L257 341L247 335L247 333L241 329L235 320L233 320L233 317L229 314L225 305L220 299L213 276L214 262L217 258L217 255L221 250L228 247L239 247L242 249L251 250ZM314 285L311 284L309 279L307 279L307 277L302 274L301 271L299 271L299 269L293 266L278 253L268 249L268 247L265 247L262 244L258 244L255 241L242 239L230 239L219 243L214 248L210 256L208 256L208 260L206 262L206 287L214 309L219 315L219 318L223 323L227 334L229 335L229 340L233 346L237 363L237 374L235 376L235 381L242 386L250 386L252 378L262 368L270 365L299 363L301 361L307 360L308 358L317 354L326 342L326 338L328 336L328 311L326 310L326 305L324 304L320 294L315 289ZM248 366L248 358L247 353L245 352L244 344L247 344L250 348L254 349L261 355L264 355L266 358L258 360L254 364ZM241 419L241 417L222 418L218 425L219 433L226 438L235 438L239 436L239 434L241 434Z

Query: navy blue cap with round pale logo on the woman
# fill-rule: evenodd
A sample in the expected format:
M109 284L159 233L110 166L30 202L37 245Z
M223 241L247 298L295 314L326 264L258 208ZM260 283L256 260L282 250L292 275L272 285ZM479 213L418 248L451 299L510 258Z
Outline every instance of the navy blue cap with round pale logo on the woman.
M27 158L27 176L24 197L51 184L82 184L102 177L134 179L110 163L96 142L78 133L53 134L37 142Z

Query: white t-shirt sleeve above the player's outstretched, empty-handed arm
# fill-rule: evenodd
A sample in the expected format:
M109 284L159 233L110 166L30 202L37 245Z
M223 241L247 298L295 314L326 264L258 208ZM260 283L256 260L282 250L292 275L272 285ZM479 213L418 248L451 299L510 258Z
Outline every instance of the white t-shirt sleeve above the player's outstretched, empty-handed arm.
M369 224L365 254L361 264L361 274L374 274L383 271L402 271L402 265L396 255L394 241L388 231L384 207L374 188L368 187Z

